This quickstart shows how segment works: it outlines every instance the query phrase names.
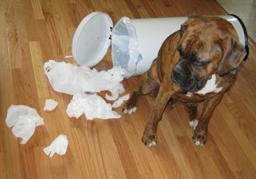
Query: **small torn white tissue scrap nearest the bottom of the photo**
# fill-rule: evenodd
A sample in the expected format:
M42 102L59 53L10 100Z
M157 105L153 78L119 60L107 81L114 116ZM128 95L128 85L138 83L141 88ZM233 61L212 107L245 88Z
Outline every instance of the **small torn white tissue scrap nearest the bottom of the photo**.
M54 155L55 153L59 155L66 154L67 148L68 148L67 136L60 134L60 136L58 136L54 141L52 141L51 145L44 148L43 150L46 155L49 155L51 153L50 157L52 157L52 155Z

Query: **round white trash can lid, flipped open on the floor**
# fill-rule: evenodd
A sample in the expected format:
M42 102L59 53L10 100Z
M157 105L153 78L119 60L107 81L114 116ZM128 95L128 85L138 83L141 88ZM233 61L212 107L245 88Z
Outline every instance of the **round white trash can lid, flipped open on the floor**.
M111 43L113 22L108 14L95 11L78 25L72 41L72 55L81 66L95 66Z

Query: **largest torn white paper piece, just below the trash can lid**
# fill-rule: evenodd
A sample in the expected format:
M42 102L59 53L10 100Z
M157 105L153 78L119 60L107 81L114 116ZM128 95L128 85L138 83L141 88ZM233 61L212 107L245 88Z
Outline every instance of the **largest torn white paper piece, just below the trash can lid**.
M118 66L108 71L97 71L86 66L74 66L66 62L49 60L44 64L45 75L58 92L76 94L77 92L100 92L109 90L111 96L106 94L106 99L116 100L118 95L124 92L122 80L125 69Z

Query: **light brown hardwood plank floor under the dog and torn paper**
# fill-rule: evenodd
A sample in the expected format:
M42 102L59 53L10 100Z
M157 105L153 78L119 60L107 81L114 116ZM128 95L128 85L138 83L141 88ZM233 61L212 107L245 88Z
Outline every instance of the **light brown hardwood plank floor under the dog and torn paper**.
M197 10L225 15L214 0L3 0L0 1L0 178L255 178L256 176L256 45L239 68L234 87L225 94L209 124L207 145L191 141L186 106L166 110L157 129L154 148L141 142L154 101L141 97L138 110L120 119L69 118L72 99L52 89L43 65L72 54L76 27L93 11L108 13L113 24L129 18L180 17ZM111 68L111 50L96 68ZM138 76L124 80L131 94ZM105 92L100 92L104 96ZM58 101L43 111L45 99ZM35 108L45 125L36 127L24 145L5 119L11 104ZM198 106L199 111L202 105ZM122 114L122 107L116 109ZM66 134L67 154L45 155L59 135Z

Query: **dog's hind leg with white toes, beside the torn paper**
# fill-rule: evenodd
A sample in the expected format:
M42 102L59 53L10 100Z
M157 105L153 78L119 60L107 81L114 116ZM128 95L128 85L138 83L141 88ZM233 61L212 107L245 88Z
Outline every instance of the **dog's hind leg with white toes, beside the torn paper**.
M159 84L150 76L149 72L147 71L144 73L137 87L132 92L131 97L127 100L127 102L123 106L123 112L125 114L131 115L137 110L138 101L141 95L150 94L152 97L156 97L157 92L159 89Z

